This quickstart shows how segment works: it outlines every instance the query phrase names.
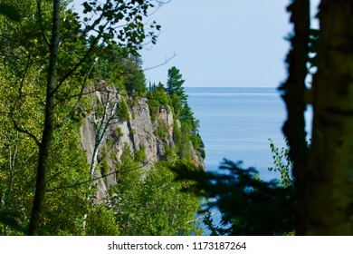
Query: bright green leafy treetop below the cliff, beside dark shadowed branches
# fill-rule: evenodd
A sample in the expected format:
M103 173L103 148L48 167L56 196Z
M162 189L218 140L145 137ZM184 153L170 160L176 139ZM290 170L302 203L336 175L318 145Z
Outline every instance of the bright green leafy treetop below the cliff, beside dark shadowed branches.
M190 235L196 231L199 199L181 191L186 184L174 181L170 166L157 163L144 172L143 181L141 171L125 171L129 176L121 178L115 188L117 195L110 200L121 235Z

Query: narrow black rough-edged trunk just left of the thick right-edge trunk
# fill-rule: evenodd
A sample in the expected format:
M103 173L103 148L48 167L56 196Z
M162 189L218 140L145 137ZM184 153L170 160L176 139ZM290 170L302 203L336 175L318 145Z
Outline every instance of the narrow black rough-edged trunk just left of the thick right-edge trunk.
M293 175L297 190L297 231L298 235L305 234L305 182L307 165L307 142L305 132L304 92L305 79L308 73L307 63L309 54L310 34L310 1L295 0L288 7L291 12L291 23L294 24L294 36L291 38L291 51L287 56L288 79L280 90L287 107L287 121L283 132L290 146L289 156L293 161Z

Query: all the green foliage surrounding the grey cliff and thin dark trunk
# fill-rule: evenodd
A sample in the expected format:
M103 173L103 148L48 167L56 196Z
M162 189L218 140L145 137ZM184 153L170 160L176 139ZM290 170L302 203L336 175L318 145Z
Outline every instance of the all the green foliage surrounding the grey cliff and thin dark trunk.
M92 114L100 119L105 109L103 106L94 109L89 105L91 98L82 97L82 93L102 95L107 87L118 92L123 99L117 114L129 120L129 106L123 96L127 92L134 92L133 95L147 92L138 49L148 37L152 43L156 42L154 31L160 26L153 22L146 27L144 17L152 1L124 1L124 5L120 5L121 1L86 1L84 25L81 25L81 17L67 8L69 2L63 1L60 11L60 48L53 77L55 88L51 94L55 103L50 109L54 127L45 169L45 199L36 233L118 235L119 224L122 234L189 234L195 229L193 219L198 198L180 191L185 186L173 181L175 174L168 170L169 164L158 164L150 171L142 171L139 164L146 161L143 147L132 153L125 145L116 169L118 185L110 189L115 202L113 210L100 205L91 207L87 203L87 197L93 196L96 190L90 181L86 154L81 149L80 128L87 112L95 111ZM94 15L101 15L101 19L95 19ZM126 25L120 26L119 22ZM0 36L0 200L3 204L0 233L21 235L31 218L38 141L42 138L48 105L52 1L3 0L0 34L6 34ZM177 75L175 82L173 87L177 88ZM90 89L87 88L89 83L92 84ZM174 88L172 96L176 111L180 113L180 102L186 96L179 93L183 88ZM152 96L156 103L150 111L156 106L155 116L160 107L167 109L172 104L161 83ZM105 98L103 95L94 98L100 99ZM137 103L136 98L131 103ZM161 136L166 137L166 128L160 124ZM121 130L117 132L121 137ZM107 143L107 147L102 148L102 174L110 171L108 156L114 154L109 150L112 144ZM176 161L176 153L172 148L169 150L166 149L166 158L173 157ZM139 228L145 220L148 221L146 226ZM83 222L86 222L84 229Z

